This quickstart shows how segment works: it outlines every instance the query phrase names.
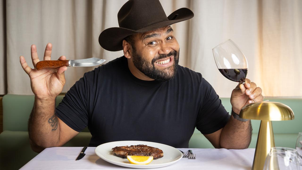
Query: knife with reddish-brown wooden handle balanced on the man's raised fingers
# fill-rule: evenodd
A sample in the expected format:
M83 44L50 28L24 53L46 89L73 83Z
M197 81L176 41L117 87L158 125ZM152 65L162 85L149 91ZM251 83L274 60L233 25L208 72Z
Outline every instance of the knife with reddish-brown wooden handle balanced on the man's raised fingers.
M86 58L80 60L43 60L36 64L37 70L43 68L59 68L63 66L71 67L92 67L104 63L106 60L99 58Z

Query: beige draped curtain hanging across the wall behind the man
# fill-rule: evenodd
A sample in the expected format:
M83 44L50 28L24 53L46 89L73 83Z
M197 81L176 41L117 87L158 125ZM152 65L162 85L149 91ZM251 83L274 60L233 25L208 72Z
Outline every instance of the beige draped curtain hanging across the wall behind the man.
M52 59L98 57L107 63L123 55L98 44L102 30L118 27L117 12L126 0L1 0L0 94L32 94L19 56L31 64L30 47L40 60L53 44ZM179 64L200 72L220 97L237 85L218 71L212 48L232 39L246 55L247 77L264 96L302 97L301 0L161 0L167 15L187 7L194 18L172 25L181 52ZM6 33L5 33L6 28ZM5 50L6 48L6 50ZM6 55L5 55L6 52ZM69 67L63 92L92 67ZM6 78L7 77L7 80ZM7 86L6 86L7 84Z

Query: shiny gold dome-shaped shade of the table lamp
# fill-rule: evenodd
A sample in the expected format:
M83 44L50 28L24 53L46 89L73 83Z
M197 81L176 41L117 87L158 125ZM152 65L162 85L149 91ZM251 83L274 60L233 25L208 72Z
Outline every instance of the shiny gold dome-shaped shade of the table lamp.
M266 121L292 120L294 119L294 112L283 103L255 102L244 106L239 117Z

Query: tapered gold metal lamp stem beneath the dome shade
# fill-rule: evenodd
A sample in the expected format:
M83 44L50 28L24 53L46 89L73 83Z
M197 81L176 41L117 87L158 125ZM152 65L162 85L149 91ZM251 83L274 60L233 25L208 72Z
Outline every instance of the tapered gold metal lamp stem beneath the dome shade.
M261 120L252 170L263 169L271 147L275 147L271 121Z

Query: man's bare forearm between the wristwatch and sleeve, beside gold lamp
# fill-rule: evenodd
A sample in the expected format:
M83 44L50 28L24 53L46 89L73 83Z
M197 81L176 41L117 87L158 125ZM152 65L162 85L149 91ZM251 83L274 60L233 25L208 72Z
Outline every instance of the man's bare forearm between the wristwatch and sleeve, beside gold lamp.
M204 136L215 148L246 149L252 139L251 121L242 122L231 116L226 126Z

